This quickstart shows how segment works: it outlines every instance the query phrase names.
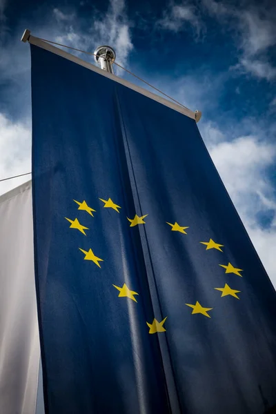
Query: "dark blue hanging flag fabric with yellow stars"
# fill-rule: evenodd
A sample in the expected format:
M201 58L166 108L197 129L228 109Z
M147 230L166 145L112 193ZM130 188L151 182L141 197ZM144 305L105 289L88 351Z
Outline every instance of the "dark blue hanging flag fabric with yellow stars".
M195 121L31 51L46 414L270 412L275 290Z

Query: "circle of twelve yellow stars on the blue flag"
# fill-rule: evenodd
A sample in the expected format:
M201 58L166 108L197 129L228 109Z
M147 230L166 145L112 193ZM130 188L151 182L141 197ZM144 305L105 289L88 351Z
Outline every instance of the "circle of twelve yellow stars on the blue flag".
M118 204L115 204L115 202L112 201L112 199L108 198L106 200L106 199L99 198L99 200L103 202L103 208L111 208L112 210L115 210L117 213L120 213L119 208L121 207ZM86 213L94 217L93 213L95 213L97 210L88 206L85 200L81 202L81 201L77 201L74 199L73 201L75 201L75 203L79 206L78 210L86 211ZM128 217L126 218L128 219L128 221L130 221L130 227L135 227L135 226L138 226L139 224L146 224L146 221L144 221L146 217L148 217L147 214L141 215L141 216L135 214L135 217L133 219L130 219ZM65 219L70 222L70 228L75 228L79 230L83 235L86 235L86 232L84 230L89 230L89 228L80 224L77 218L72 220L72 219L68 219L68 217L65 217ZM175 224L172 224L166 221L166 224L170 226L171 231L179 232L184 235L188 234L185 231L187 228L189 228L188 226L180 226L180 224L178 224L177 221L175 221ZM214 242L213 239L210 239L208 242L199 242L199 243L206 246L205 250L215 249L215 250L219 250L221 253L224 252L224 250L221 249L224 247L224 245ZM101 265L99 264L99 262L103 262L103 259L101 259L100 257L97 257L91 248L89 248L88 251L82 248L79 248L79 250L84 255L83 260L90 260L91 262L95 263L99 268L101 268ZM225 273L233 273L234 275L242 277L240 272L242 272L243 270L240 268L235 268L233 264L231 264L230 262L228 262L228 264L219 264L219 266L225 269ZM124 285L121 287L115 284L113 284L112 286L114 286L117 290L119 290L118 297L127 297L128 299L131 299L132 301L137 303L137 299L135 298L135 296L139 294L135 292L134 290L130 290L130 288L128 288L126 283L124 283ZM237 294L241 293L241 290L230 288L228 284L225 284L224 287L219 287L219 288L214 288L214 289L219 290L219 292L221 292L221 297L232 296L232 297L235 297L236 299L239 299L239 296ZM201 315L204 315L210 318L209 312L213 311L213 308L205 308L204 306L201 306L201 304L198 301L196 301L195 304L185 304L185 305L193 309L193 311L191 312L191 315L201 314ZM157 319L154 318L152 321L152 324L150 324L149 322L146 322L146 324L150 328L149 333L152 334L152 333L166 332L166 329L164 328L164 323L166 322L166 319L167 317L161 320L161 322L158 322Z

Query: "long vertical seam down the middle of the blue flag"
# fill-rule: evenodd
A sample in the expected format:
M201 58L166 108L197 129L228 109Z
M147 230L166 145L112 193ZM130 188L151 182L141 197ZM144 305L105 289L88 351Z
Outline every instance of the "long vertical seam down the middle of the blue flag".
M134 184L134 187L135 187L135 193L136 193L135 195L137 197L137 201L138 201L138 204L139 204L139 214L142 215L143 213L141 212L141 201L139 199L139 193L138 193L138 188L137 188L137 181L135 179L135 171L134 171L134 166L133 166L133 163L132 163L132 158L131 158L131 153L130 153L130 146L129 146L129 142L128 142L128 137L127 137L127 134L126 134L126 126L124 124L124 118L121 115L121 104L120 104L120 101L119 101L119 96L118 96L118 93L117 93L117 88L116 88L116 92L115 93L116 93L117 102L118 102L119 117L120 117L121 126L122 126L122 128L121 128L122 135L123 135L124 141L126 142L126 148L127 148L127 152L128 152L128 154L126 154L126 155L128 155L129 162L130 162L130 168L131 168L131 172L132 172L132 178L130 177L130 186L131 186L131 181L133 181L133 184ZM134 194L133 194L133 190L132 190L132 195L133 195L133 201L134 201L134 204L135 204L135 197L134 197ZM143 234L141 234L141 232L143 232ZM153 311L155 313L155 308L158 308L158 312L159 312L159 315L161 315L161 319L164 319L164 315L161 312L161 304L160 304L159 296L158 296L158 293L157 293L157 282L156 282L155 273L154 273L154 270L153 270L152 258L151 258L151 255L150 255L150 249L149 249L149 245L148 245L148 238L146 236L146 229L144 228L144 226L142 226L142 228L139 228L139 234L140 234L141 246L142 246L143 253L144 253L144 248L143 248L142 238L144 239L144 244L146 244L146 250L147 250L148 257L149 257L150 268L151 268L151 271L152 271L152 279L153 279L153 285L154 285L154 289L155 289L155 302L157 302L157 303L155 303L155 305L153 304L153 302L152 302L152 290L150 290L150 285L148 284L149 291L150 291L150 299L151 299L151 302L152 302L152 309L153 309ZM146 259L145 259L145 264L146 264ZM159 352L160 352L160 355L161 355L162 368L163 368L163 371L164 371L164 378L165 378L165 384L166 384L166 393L167 393L168 407L170 409L170 413L172 413L172 407L171 407L171 401L170 401L170 393L168 391L167 376L166 376L166 370L164 368L164 359L163 359L163 354L162 354L162 351L161 351L160 339L161 338L157 337L158 344L159 344ZM167 341L166 335L165 335L165 340L166 340L166 350L164 350L164 351L168 354L168 359L169 359L169 362L170 362L171 376L173 378L173 388L174 388L175 393L177 395L177 403L178 403L178 407L177 408L179 410L179 413L181 413L179 393L178 393L177 385L176 385L176 382L175 382L175 375L174 375L174 371L173 371L173 368L172 368L172 359L171 359L171 356L170 356L170 350L169 350L169 346L168 346L168 341ZM175 411L174 411L174 413L175 413ZM175 413L175 414L177 414L177 413Z

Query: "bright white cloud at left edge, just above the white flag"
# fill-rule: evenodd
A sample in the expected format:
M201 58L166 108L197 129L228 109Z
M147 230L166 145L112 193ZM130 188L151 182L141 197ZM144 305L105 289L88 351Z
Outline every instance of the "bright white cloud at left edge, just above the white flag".
M30 126L13 123L0 112L0 179L30 172ZM0 182L0 194L28 181L30 175Z

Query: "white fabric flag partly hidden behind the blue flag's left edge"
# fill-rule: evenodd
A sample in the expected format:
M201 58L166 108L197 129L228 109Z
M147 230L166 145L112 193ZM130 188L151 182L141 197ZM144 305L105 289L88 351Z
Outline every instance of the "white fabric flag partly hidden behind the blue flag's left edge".
M39 375L31 181L0 197L0 413L34 414Z

